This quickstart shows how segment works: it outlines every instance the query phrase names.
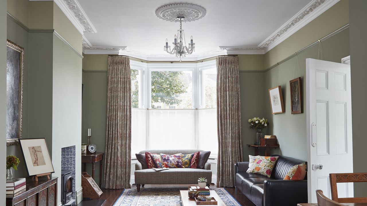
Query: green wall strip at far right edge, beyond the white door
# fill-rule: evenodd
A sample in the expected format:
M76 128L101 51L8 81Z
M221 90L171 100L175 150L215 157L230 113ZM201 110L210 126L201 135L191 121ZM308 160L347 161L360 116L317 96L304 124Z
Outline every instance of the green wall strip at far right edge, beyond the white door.
M353 121L353 172L367 172L366 140L366 57L367 57L367 1L349 1L350 18L350 70L352 79L352 121ZM355 183L354 194L365 197L367 183Z

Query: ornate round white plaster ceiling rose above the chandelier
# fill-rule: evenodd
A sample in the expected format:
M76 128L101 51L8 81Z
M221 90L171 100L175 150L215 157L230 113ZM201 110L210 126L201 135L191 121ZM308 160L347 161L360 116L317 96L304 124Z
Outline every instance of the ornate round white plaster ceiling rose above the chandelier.
M166 4L157 8L156 15L158 18L170 22L179 22L177 16L182 15L185 16L182 22L191 22L203 18L206 15L206 10L196 4Z

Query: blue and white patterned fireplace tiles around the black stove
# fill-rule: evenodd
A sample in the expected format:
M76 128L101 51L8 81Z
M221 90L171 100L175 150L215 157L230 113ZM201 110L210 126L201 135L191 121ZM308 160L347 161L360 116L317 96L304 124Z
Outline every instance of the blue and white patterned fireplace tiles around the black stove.
M75 199L75 146L61 148L61 169L73 170L73 199Z

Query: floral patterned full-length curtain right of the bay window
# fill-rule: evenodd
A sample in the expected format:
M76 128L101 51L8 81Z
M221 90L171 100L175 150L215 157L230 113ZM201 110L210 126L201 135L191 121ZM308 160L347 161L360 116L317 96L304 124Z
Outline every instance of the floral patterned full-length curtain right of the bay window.
M217 57L217 186L233 187L234 164L243 161L238 56Z

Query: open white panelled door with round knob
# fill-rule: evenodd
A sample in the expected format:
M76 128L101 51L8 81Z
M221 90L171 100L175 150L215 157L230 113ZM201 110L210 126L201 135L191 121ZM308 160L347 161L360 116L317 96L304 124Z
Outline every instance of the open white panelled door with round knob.
M331 198L330 173L353 172L350 65L306 59L308 201L316 190ZM338 183L353 197L353 183Z

